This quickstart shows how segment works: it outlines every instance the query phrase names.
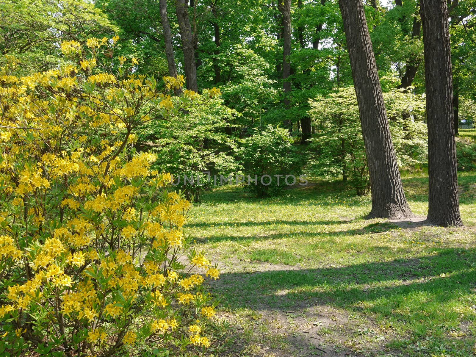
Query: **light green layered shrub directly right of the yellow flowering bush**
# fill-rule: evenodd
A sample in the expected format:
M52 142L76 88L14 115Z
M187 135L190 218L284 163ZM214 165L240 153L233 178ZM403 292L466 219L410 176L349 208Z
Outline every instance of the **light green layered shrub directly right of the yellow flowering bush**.
M208 94L205 90L204 95ZM201 190L213 182L204 172L228 176L240 169L231 150L235 141L225 133L230 126L225 119L238 113L224 106L218 96L206 106L194 105L195 99L192 103L180 117L149 122L141 135L160 147L153 167L173 173L174 185L188 199L198 201ZM185 176L190 179L186 185Z

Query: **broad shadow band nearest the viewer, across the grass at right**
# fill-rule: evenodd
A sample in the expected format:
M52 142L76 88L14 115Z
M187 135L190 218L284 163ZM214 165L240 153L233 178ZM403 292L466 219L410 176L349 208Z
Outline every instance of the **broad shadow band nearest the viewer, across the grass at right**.
M359 301L377 301L386 296L392 296L394 300L396 295L401 296L403 302L403 296L412 292L434 295L439 302L444 302L460 297L461 291L470 292L475 288L475 249L436 250L436 255L427 257L347 267L225 273L212 287L224 294L225 302L236 307L249 306L263 295L272 297L285 290L286 293L279 293L279 297L315 298L345 308L353 307Z

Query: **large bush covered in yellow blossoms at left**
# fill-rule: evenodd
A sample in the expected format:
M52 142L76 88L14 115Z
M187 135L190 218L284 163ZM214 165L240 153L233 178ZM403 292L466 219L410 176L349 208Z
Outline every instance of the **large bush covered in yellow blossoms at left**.
M203 283L217 266L189 249L190 203L167 190L170 174L134 149L139 125L210 94L173 96L183 77L134 74L117 40L64 42L70 65L28 77L12 57L0 69L2 356L210 345Z

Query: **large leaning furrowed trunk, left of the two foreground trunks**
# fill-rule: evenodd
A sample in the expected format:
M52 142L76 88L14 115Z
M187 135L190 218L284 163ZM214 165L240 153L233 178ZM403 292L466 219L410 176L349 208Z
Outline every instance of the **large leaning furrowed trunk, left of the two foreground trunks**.
M409 218L362 0L339 0L372 186L368 218Z

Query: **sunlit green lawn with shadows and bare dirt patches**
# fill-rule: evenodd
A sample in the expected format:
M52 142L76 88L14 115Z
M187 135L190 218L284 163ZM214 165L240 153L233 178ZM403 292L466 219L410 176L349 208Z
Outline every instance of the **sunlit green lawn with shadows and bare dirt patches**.
M424 217L428 179L403 182ZM210 352L474 356L476 173L459 185L466 228L366 220L370 197L340 182L265 199L237 187L205 193L187 228L219 262L211 288L231 324Z

